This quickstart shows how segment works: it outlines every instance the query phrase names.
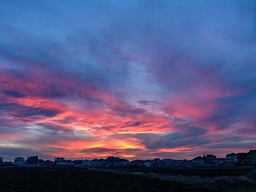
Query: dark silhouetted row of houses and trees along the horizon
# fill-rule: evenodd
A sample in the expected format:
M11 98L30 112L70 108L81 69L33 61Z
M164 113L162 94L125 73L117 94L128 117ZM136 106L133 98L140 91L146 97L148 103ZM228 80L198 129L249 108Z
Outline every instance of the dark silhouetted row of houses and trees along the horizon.
M80 159L70 160L65 157L56 157L54 161L38 159L38 156L31 156L27 159L24 157L15 157L12 161L4 161L3 157L0 157L1 166L106 166L106 167L118 167L118 166L187 166L187 167L214 167L214 166L246 166L256 165L256 150L249 150L242 153L230 153L226 157L217 158L213 154L207 154L204 156L197 156L191 160L187 159L136 159L129 161L128 159L109 156L106 159Z

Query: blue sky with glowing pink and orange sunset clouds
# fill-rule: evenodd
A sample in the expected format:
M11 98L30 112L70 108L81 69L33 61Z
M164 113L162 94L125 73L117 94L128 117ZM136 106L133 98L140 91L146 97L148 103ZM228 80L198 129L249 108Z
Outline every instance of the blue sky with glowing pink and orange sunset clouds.
M0 18L3 160L256 148L255 1L2 0Z

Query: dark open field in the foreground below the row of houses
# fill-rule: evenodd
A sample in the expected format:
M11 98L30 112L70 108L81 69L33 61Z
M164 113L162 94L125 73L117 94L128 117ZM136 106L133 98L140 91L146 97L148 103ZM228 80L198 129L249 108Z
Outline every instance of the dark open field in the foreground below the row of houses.
M256 169L0 167L0 191L256 191Z

